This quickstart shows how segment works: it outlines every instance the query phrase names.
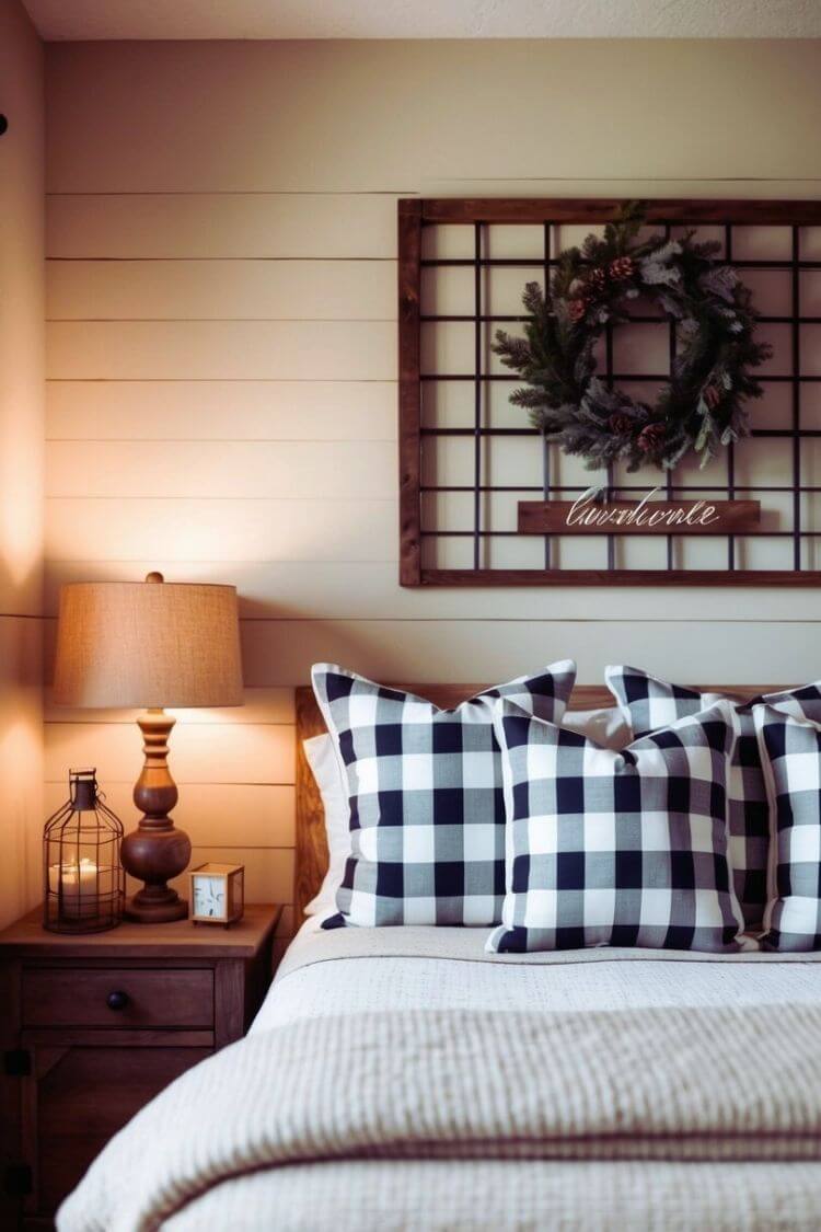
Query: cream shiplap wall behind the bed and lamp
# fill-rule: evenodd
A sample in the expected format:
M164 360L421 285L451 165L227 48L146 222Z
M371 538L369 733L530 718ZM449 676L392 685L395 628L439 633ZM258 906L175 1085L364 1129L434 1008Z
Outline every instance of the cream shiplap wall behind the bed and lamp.
M59 583L234 582L249 705L186 715L196 856L290 898L293 697L314 659L497 679L575 655L821 674L814 591L396 584L400 195L816 196L812 43L48 48L47 605ZM129 716L48 710L47 780L130 817ZM288 918L283 936L293 928Z

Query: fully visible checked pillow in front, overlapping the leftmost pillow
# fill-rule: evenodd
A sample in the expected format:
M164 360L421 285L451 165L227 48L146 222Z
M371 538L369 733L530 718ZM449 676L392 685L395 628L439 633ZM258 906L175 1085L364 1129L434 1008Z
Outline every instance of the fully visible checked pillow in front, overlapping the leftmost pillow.
M739 949L719 705L620 753L501 701L507 893L487 950Z

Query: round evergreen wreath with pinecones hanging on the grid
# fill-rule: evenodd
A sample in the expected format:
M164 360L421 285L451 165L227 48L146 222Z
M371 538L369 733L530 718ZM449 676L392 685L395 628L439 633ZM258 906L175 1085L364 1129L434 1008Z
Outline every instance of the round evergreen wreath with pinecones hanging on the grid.
M747 432L743 402L761 397L751 370L769 355L756 342L751 293L735 270L715 261L715 243L640 239L645 209L628 202L599 239L565 249L548 294L528 282L524 338L496 331L494 351L527 382L511 402L565 453L596 469L617 460L628 471L675 467L691 448L707 466L721 445ZM629 320L641 297L676 324L676 357L655 404L609 388L596 375L596 342L608 324Z

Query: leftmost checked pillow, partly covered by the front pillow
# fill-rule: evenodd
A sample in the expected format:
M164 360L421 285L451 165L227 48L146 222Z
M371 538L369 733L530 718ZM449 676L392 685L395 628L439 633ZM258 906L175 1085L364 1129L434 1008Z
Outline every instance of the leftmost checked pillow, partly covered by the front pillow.
M314 692L340 755L351 855L340 924L495 924L505 896L505 801L492 703L561 721L576 664L556 663L454 710L334 664Z

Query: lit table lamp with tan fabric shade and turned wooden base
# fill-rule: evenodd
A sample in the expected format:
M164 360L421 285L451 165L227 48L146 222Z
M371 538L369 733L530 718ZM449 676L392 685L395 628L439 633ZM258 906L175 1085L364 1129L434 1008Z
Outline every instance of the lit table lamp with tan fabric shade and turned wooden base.
M177 786L169 771L175 724L165 706L241 706L234 586L75 582L60 590L54 667L58 706L138 707L145 763L134 786L143 813L122 844L126 872L143 882L126 917L144 924L183 919L187 903L167 882L191 859L188 835L169 813Z

